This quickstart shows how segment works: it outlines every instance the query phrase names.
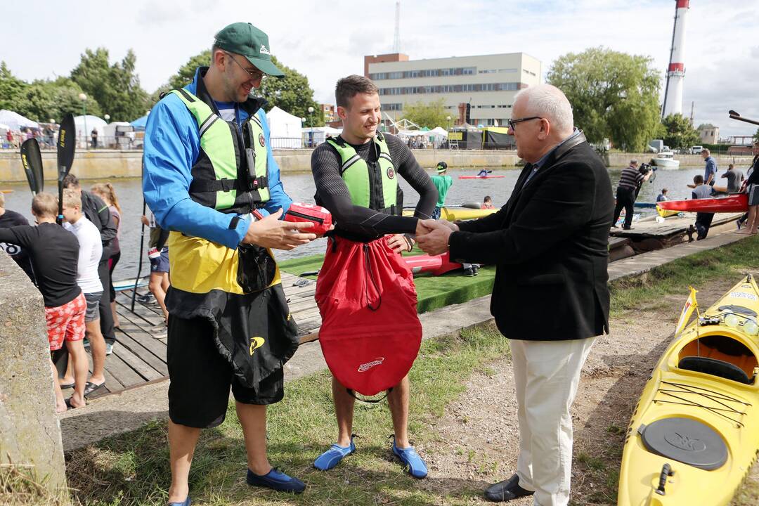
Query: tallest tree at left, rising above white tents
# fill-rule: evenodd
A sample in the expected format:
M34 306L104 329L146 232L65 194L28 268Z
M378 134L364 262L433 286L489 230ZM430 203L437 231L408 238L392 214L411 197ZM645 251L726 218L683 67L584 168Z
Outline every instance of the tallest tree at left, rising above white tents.
M80 63L71 71L71 80L87 93L88 112L94 107L94 101L112 121L132 121L145 114L149 96L140 87L135 63L131 49L115 64L109 63L109 52L105 48L85 50Z

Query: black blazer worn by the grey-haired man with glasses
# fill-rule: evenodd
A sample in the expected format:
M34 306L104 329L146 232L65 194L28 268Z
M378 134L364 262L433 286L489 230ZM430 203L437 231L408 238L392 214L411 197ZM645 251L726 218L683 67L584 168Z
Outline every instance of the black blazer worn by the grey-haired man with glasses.
M496 265L490 312L507 338L582 339L609 332L609 173L580 134L559 146L499 212L459 223L457 261ZM523 187L524 185L524 187Z

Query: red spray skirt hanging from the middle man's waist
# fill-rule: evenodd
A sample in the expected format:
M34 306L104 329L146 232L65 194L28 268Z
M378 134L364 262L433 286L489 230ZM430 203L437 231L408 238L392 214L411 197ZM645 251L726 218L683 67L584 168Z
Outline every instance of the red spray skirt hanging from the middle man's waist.
M419 354L414 276L382 237L330 237L317 281L319 342L343 386L374 395L398 385Z

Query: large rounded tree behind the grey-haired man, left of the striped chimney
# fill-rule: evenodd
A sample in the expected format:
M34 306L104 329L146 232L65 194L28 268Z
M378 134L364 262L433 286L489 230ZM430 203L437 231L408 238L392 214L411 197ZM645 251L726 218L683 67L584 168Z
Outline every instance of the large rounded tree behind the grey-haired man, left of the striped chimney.
M642 151L655 136L661 77L652 58L591 48L557 58L546 79L565 93L575 125L591 143L608 138Z

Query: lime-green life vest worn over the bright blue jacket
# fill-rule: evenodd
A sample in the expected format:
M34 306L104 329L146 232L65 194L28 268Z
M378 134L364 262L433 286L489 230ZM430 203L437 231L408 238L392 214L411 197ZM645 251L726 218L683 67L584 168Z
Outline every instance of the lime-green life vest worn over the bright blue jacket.
M269 200L268 152L255 114L241 125L224 121L187 90L172 90L197 121L200 153L191 168L190 198L222 212L247 213ZM241 156L242 153L242 156ZM250 168L253 170L250 170Z

